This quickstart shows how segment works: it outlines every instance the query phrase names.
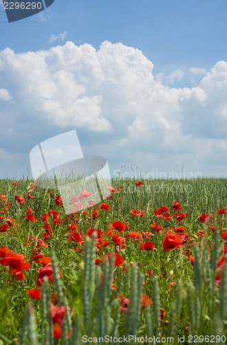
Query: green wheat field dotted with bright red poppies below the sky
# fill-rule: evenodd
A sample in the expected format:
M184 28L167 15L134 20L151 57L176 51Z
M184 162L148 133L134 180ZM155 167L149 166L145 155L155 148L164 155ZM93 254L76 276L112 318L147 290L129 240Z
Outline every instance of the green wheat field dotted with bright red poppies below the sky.
M227 180L107 189L0 181L0 345L226 344Z

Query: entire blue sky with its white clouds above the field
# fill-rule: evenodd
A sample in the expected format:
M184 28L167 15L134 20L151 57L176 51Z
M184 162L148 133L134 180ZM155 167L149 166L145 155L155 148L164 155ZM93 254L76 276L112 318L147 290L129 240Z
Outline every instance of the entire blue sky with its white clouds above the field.
M112 175L227 177L226 33L225 0L56 0L14 23L0 6L0 177L74 129Z

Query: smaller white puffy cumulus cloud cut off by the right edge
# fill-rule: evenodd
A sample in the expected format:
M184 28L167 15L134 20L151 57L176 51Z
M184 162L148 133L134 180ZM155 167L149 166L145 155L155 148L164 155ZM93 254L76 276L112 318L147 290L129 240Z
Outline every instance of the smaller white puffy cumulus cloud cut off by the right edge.
M183 133L202 138L227 138L227 62L219 61L195 88L182 90L179 103Z

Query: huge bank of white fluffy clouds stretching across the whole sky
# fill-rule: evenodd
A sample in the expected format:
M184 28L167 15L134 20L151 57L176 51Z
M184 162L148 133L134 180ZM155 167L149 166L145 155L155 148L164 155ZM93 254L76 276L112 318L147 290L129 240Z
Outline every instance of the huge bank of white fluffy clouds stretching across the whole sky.
M183 77L179 69L167 78L172 83ZM136 48L105 41L95 50L68 41L23 54L6 48L0 80L1 149L29 152L39 141L76 128L85 150L107 157L113 169L126 162L165 171L184 165L213 175L218 158L219 171L226 169L225 61L194 88L174 88L153 77L153 63Z

